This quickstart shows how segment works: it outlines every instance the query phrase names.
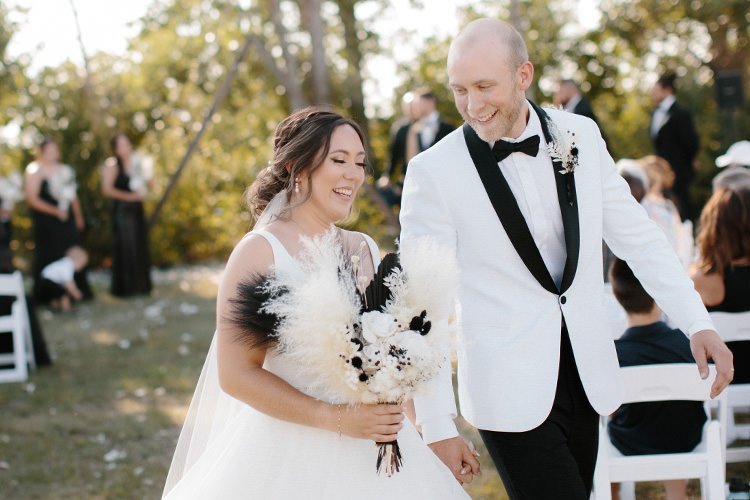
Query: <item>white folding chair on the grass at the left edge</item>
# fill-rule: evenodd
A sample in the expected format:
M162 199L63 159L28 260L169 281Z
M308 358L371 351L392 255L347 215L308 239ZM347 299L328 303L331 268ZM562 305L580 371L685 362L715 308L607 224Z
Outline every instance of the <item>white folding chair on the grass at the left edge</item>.
M13 351L0 354L0 382L23 382L28 377L28 368L36 368L34 349L31 343L31 326L26 308L26 290L19 271L0 274L0 296L14 297L11 313L0 316L0 335L12 335Z

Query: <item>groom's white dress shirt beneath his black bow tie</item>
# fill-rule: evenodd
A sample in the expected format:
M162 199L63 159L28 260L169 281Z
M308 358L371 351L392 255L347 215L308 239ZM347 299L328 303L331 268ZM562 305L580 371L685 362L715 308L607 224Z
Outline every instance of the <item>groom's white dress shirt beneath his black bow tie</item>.
M557 201L555 173L547 153L547 142L544 140L539 116L528 103L527 111L529 120L523 133L517 139L503 137L503 140L520 142L536 134L539 136L539 152L536 157L525 153L511 153L499 166L526 225L529 226L542 260L559 287L567 252L560 204Z

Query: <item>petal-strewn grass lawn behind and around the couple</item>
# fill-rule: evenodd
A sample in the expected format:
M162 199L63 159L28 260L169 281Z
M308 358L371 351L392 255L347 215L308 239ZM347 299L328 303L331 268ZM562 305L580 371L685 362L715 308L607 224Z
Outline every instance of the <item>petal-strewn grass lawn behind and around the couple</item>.
M94 302L40 311L55 361L0 385L0 498L160 498L213 335L221 268L157 272L153 296L130 300L94 275ZM472 498L507 498L478 434L462 432L482 455ZM732 473L748 478L750 464ZM638 491L661 498L655 485Z

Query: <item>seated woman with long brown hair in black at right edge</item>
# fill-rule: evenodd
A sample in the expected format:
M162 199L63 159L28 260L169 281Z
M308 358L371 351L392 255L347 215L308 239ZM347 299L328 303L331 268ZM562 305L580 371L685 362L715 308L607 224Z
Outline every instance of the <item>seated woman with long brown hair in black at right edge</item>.
M720 188L701 212L695 289L710 311L750 311L750 185ZM728 342L733 384L750 383L750 341Z

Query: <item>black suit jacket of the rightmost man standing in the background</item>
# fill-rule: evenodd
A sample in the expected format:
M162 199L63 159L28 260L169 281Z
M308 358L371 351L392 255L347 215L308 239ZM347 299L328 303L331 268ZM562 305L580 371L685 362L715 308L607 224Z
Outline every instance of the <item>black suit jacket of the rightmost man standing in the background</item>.
M652 137L654 149L672 166L676 181L689 180L693 177L693 160L698 154L698 133L686 108L675 102L668 113L667 121Z

